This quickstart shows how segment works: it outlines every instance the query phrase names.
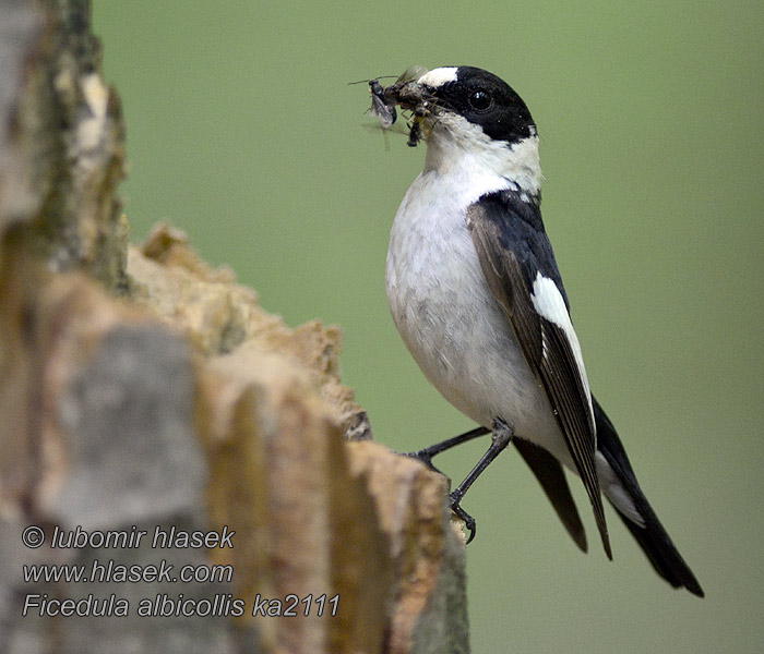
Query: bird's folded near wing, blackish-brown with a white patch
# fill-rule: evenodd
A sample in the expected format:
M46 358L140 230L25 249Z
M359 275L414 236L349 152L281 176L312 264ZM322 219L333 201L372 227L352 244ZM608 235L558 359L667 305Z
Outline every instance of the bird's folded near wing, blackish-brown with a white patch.
M575 335L569 322L568 300L537 202L523 202L516 193L489 193L467 209L467 227L488 287L506 314L530 370L547 391L568 449L592 501L605 552L612 558L599 481L595 469L597 437L588 386ZM535 287L539 279L549 280ZM536 308L534 294L549 282L562 298L560 314ZM537 302L540 296L535 298ZM559 303L558 303L559 304Z

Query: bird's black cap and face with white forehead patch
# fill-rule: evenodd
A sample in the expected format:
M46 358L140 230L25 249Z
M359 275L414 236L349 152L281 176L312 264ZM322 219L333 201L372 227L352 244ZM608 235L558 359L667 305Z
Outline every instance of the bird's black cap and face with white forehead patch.
M417 84L438 108L479 125L494 141L515 143L534 136L536 124L523 99L503 80L470 65L431 70Z

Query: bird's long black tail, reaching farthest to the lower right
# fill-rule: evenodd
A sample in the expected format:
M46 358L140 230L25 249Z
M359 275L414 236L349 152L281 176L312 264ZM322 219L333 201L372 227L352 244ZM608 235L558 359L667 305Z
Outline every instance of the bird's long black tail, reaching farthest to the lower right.
M616 427L613 427L597 400L594 397L592 400L597 423L597 449L602 452L623 484L624 489L631 496L636 510L645 521L645 526L635 524L617 509L619 517L623 520L660 577L675 588L685 588L694 595L703 597L704 593L701 584L697 583L697 579L695 579L692 570L684 562L668 533L660 524L655 511L649 506L644 493L642 493L626 452L618 438Z

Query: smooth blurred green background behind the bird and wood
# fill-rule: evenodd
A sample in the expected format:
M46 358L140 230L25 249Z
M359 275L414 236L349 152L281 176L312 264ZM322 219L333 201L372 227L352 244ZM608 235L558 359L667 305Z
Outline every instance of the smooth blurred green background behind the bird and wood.
M539 125L544 216L595 392L707 597L675 592L614 513L572 544L520 458L469 493L474 652L761 652L764 13L756 1L95 0L122 97L133 241L189 233L290 325L345 330L379 440L470 423L387 315L390 226L423 146L363 116L411 63L504 77ZM445 458L453 477L482 443Z

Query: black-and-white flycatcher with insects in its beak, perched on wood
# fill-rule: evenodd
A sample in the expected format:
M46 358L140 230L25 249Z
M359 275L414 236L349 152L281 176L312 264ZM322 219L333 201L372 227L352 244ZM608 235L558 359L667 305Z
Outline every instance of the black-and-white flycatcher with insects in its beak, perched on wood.
M608 558L601 496L657 573L704 596L642 492L611 421L589 389L570 303L540 211L539 137L530 112L499 76L475 66L415 68L377 105L410 113L422 171L393 221L385 267L393 322L425 377L478 427L413 456L432 458L490 433L490 446L450 494L467 489L510 444L584 552L586 535L564 469L586 489ZM422 72L426 71L426 72Z

